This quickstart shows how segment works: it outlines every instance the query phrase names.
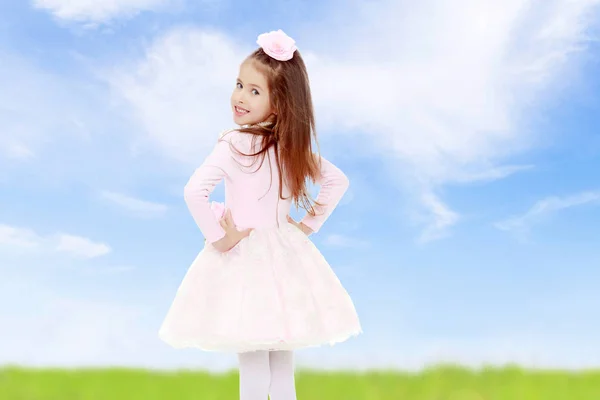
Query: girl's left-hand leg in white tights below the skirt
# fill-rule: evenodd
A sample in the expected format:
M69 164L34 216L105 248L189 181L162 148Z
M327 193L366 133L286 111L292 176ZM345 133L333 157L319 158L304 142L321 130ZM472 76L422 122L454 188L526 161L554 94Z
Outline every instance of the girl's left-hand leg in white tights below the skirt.
M253 351L239 353L240 400L267 400L271 371L269 352Z

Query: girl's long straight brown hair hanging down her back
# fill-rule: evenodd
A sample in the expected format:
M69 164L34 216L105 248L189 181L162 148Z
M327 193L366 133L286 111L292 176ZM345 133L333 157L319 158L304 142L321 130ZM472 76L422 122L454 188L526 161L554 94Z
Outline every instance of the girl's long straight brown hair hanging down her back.
M304 60L298 50L290 60L277 61L259 48L244 62L252 62L266 77L271 106L275 111L275 118L270 126L236 129L254 134L254 139L263 139L260 150L245 155L262 156L262 165L265 154L274 147L279 170L279 197L284 199L282 179L285 177L296 207L300 206L310 215L315 215L313 203L319 203L311 198L307 180L314 183L319 177L321 166L312 96ZM317 157L312 150L313 139L317 146Z

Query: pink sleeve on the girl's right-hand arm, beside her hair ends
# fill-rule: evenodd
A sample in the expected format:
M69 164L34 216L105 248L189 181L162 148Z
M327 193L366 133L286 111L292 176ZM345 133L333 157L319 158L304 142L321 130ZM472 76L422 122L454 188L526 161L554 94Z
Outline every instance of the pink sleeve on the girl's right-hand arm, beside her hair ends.
M348 190L350 181L344 173L321 157L321 176L317 180L317 184L321 185L316 201L322 204L315 206L315 216L307 214L302 222L308 226L313 232L318 232L323 223L329 218L335 207Z

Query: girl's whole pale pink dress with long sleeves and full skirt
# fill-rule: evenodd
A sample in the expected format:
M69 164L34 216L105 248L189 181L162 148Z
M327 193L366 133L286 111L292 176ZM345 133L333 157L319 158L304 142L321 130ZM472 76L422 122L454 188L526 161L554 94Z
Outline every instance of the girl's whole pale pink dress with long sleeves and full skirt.
M159 330L174 348L246 352L333 345L361 333L354 304L312 241L286 220L291 199L279 197L271 148L260 160L252 135L229 131L196 169L185 200L206 238L185 274ZM327 220L348 188L348 179L321 158L317 215L303 222L313 231ZM213 246L225 234L209 196L225 179L225 206L238 229L254 228L227 253ZM283 197L289 189L283 188Z

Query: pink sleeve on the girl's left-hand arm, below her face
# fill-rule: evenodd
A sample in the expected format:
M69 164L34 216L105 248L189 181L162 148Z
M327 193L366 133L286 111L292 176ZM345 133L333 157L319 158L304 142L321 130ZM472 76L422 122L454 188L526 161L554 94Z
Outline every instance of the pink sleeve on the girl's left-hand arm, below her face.
M184 199L200 231L209 243L225 236L225 230L210 208L209 196L215 186L231 171L233 155L229 143L219 141L189 179L184 188Z

